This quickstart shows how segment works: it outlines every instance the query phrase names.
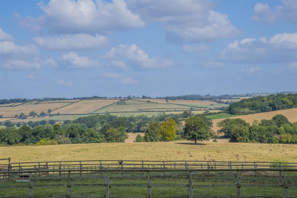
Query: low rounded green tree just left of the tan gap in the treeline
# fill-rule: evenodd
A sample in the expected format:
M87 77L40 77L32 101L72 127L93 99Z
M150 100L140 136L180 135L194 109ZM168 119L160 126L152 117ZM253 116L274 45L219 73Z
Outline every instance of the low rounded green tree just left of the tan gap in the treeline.
M125 142L128 137L124 127L109 128L104 134L106 142Z

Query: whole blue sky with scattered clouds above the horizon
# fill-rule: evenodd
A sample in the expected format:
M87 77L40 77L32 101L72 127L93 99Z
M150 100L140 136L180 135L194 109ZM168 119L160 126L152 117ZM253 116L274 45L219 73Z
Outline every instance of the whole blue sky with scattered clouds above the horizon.
M296 0L0 0L0 98L297 91L296 10Z

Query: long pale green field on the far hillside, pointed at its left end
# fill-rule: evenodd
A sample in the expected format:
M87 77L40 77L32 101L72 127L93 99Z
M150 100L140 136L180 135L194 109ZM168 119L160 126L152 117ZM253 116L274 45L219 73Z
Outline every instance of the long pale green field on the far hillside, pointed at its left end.
M146 103L146 104L131 104L131 105L109 105L93 113L105 113L108 112L121 112L121 111L140 111L140 109L151 110L151 109L178 109L184 108L189 109L188 106L169 104L169 103Z

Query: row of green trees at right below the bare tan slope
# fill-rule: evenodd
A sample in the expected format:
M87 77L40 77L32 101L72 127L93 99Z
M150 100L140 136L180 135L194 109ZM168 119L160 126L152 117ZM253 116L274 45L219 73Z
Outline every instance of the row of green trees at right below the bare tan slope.
M240 118L227 118L218 122L217 127L217 133L223 133L230 142L297 144L297 122L292 124L280 114L271 120L255 120L252 125Z

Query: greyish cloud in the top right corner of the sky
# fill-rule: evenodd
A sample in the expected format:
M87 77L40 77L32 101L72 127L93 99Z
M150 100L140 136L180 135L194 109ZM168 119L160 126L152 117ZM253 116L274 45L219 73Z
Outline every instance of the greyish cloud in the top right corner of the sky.
M271 8L268 3L256 3L254 6L255 14L251 17L253 21L261 23L274 23L287 20L290 23L297 23L297 1L282 0L282 6Z

